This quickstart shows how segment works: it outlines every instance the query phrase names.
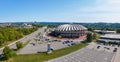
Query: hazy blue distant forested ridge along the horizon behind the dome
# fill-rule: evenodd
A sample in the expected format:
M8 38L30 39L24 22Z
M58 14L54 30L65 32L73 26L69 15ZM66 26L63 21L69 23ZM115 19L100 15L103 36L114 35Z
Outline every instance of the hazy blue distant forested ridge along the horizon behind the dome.
M71 24L65 22L40 22L40 24L46 25L61 25L61 24ZM120 28L120 23L72 23L72 24L81 24L87 28Z

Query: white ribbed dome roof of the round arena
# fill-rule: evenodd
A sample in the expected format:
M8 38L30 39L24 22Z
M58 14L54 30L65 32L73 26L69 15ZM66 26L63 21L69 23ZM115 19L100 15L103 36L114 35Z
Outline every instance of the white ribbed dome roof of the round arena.
M79 24L64 24L58 26L55 31L76 31L76 30L86 30L87 28Z

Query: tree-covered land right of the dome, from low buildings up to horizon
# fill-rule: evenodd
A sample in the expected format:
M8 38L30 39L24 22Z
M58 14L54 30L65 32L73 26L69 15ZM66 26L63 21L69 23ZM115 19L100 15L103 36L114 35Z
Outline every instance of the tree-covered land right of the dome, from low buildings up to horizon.
M114 30L117 33L120 33L120 23L80 23L80 24L87 27L89 31L100 29L100 30Z

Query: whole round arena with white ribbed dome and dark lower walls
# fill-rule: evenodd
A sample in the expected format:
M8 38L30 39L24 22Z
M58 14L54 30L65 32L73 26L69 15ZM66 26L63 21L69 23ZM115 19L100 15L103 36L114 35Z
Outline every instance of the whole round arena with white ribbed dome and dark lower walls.
M86 31L87 28L79 24L63 24L59 25L50 35L62 38L79 38L86 35Z

